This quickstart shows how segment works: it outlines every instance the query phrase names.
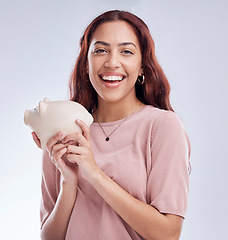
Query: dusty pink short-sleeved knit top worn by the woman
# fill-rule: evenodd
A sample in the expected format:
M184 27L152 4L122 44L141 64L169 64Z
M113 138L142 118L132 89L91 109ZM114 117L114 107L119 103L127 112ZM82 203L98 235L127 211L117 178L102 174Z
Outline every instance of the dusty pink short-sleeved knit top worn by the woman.
M123 120L102 123L109 135ZM98 166L135 198L161 213L185 217L190 143L176 113L145 106L105 141L98 123L90 128ZM44 152L41 226L54 208L61 176ZM153 227L153 226L151 226ZM139 236L79 175L66 240L137 240Z

